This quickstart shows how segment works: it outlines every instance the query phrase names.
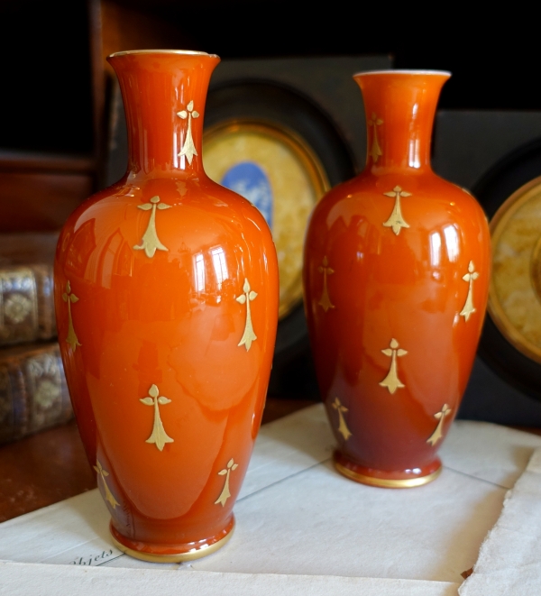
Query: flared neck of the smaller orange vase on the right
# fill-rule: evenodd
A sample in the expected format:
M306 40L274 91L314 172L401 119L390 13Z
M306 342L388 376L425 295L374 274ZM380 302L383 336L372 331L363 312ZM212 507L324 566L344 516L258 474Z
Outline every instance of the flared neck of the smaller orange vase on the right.
M366 170L430 170L437 100L449 73L390 70L354 76L362 89L368 150Z

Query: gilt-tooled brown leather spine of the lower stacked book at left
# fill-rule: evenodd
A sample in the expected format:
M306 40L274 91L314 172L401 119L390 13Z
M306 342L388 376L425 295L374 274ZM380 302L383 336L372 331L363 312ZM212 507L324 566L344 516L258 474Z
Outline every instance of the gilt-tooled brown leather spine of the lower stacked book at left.
M56 342L0 350L0 444L68 422L71 417Z

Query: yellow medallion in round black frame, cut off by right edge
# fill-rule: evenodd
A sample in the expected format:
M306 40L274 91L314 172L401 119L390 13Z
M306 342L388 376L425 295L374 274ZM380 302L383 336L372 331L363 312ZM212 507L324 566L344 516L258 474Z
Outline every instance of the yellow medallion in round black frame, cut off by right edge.
M492 238L479 353L502 379L541 400L541 140L496 164L473 194Z

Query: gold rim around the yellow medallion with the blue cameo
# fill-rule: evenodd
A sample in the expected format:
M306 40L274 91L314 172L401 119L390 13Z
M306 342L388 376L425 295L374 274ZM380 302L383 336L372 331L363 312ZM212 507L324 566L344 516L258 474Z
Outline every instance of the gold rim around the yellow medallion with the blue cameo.
M256 133L287 145L293 155L299 160L303 169L307 172L308 178L314 193L316 201L314 206L331 189L330 182L326 176L326 171L317 157L315 151L302 139L297 133L286 126L277 126L263 118L234 118L226 120L223 123L210 126L203 133L203 142L205 144L215 142L225 134L231 133ZM306 232L306 230L305 230ZM278 316L281 320L302 301L302 268L298 271L295 280L289 286L289 291L280 299Z

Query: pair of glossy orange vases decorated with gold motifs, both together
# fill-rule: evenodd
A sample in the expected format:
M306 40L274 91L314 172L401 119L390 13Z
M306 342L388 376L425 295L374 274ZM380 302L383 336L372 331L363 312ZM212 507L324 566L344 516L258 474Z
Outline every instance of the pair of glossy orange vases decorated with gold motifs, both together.
M219 59L141 50L109 61L124 96L128 169L60 234L60 348L116 546L186 561L233 532L271 371L277 258L259 211L203 170ZM436 450L487 300L485 216L429 165L448 77L354 77L367 166L328 193L307 231L305 305L335 465L376 486L417 486L440 472Z

